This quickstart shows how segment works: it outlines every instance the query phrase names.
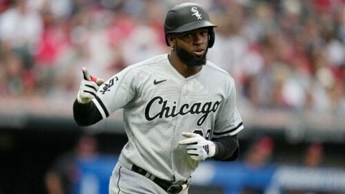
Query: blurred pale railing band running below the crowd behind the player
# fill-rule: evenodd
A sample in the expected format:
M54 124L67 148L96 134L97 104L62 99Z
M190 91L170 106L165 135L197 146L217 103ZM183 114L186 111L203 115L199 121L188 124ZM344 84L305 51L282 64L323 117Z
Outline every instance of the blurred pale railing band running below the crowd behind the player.
M46 130L76 128L78 126L72 118L73 100L0 98L0 127L35 127ZM246 127L241 134L242 138L249 138L255 133L272 133L292 142L345 141L345 120L342 116L282 109L239 109ZM122 122L122 111L119 110L110 118L83 129L99 133L124 133Z

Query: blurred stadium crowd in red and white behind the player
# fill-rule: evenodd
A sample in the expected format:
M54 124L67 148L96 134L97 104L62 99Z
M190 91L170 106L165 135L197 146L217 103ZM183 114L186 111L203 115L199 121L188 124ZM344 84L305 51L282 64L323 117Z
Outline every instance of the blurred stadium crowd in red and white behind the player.
M72 98L81 67L109 78L168 52L178 0L0 1L0 96ZM216 28L208 60L230 72L244 106L345 114L344 0L197 1Z

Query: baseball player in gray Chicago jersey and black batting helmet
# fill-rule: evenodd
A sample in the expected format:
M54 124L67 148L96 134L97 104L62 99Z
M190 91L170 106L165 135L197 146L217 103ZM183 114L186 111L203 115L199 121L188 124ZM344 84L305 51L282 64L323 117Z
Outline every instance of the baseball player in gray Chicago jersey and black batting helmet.
M200 160L237 158L244 127L234 80L206 60L215 27L204 8L181 3L166 14L169 54L130 65L105 83L83 68L73 105L77 124L124 110L128 142L109 193L188 193Z

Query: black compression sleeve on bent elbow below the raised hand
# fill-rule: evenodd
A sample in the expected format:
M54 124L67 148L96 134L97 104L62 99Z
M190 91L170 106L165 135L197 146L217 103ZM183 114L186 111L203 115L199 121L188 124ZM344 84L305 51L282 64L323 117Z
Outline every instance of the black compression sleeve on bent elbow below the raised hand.
M101 113L92 101L80 104L77 99L73 103L73 117L79 126L92 125L102 119Z

